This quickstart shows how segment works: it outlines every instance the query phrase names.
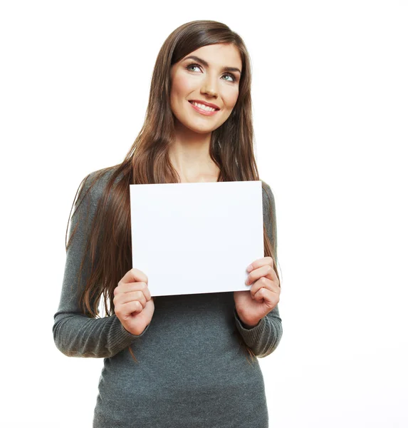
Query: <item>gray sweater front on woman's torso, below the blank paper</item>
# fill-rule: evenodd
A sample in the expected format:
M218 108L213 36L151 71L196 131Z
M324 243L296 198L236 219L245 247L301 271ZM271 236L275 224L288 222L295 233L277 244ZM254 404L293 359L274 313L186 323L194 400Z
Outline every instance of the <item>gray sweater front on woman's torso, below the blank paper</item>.
M239 343L233 292L155 297L149 329L104 360L93 428L268 427L258 360Z

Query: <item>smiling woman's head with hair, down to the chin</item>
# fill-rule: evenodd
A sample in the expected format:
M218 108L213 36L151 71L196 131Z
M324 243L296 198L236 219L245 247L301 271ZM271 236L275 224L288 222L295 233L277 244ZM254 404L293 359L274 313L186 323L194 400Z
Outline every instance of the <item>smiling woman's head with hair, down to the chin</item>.
M170 138L179 126L208 133L226 128L229 121L234 128L251 109L250 88L249 54L241 36L221 22L188 22L172 31L159 50L146 126L162 123ZM203 116L189 100L207 101L220 109L214 116ZM219 129L213 140L221 134Z

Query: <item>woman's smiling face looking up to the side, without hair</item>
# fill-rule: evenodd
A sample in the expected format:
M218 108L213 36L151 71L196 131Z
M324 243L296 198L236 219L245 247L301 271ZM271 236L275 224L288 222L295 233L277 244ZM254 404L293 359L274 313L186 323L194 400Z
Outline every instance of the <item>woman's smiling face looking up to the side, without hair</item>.
M181 123L197 133L219 128L238 99L241 70L241 56L231 44L203 46L174 63L170 72L170 104L179 122L176 125ZM214 104L219 110L209 115L194 108L190 102L193 100Z

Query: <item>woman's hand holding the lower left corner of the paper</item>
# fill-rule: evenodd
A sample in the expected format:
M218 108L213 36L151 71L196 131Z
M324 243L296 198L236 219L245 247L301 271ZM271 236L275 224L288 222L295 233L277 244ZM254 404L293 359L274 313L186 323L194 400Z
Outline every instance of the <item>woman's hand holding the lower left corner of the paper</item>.
M127 271L113 290L115 314L125 330L132 335L141 335L155 312L154 297L147 287L147 276L133 268Z

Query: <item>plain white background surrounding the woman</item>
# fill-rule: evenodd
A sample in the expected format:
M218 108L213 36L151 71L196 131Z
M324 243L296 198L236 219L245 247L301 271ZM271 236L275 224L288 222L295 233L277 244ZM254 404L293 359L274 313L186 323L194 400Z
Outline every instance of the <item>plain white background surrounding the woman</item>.
M3 1L1 425L90 427L103 360L52 335L80 180L140 131L160 46L195 19L249 49L278 223L271 427L407 427L408 6Z

